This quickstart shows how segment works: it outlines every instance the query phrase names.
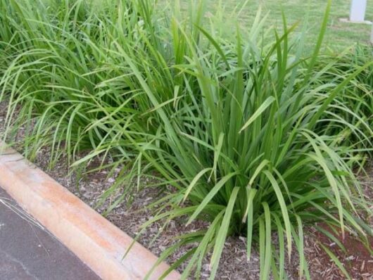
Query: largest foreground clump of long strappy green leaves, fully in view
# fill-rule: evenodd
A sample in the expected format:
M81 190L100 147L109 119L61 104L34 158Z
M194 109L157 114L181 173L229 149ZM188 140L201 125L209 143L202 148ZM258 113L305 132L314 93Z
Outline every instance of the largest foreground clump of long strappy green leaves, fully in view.
M198 218L210 222L206 229L180 236L173 247L198 242L183 278L193 271L198 277L204 256L212 250L214 279L229 235L246 236L248 258L252 245L258 246L261 279L268 279L271 271L282 279L293 245L300 256L300 276L310 277L303 251L305 224L324 222L342 234L372 234L357 214L369 212L351 170L358 159L348 146L339 146L338 134L317 134L323 122L322 132L334 131L329 127L336 124L349 126L348 119L328 113L369 62L333 87L315 86L322 71L333 67L313 72L326 24L327 16L308 59L300 58L298 42L289 42L286 26L272 44L257 49L257 38L239 31L235 42L224 42L200 27L196 39L176 25L174 50L185 50L185 61L169 70L170 75L176 70L178 79L173 79L168 101L165 89L155 87L163 84L163 76L141 67L140 61L148 60L136 51L122 53L144 92L141 100L148 98L148 108L154 108L158 119L157 133L144 134L146 141L134 145L177 189L167 197L172 210L150 222L185 215L186 224ZM180 46L180 41L185 43ZM349 112L345 104L339 106ZM273 231L279 248L274 248Z

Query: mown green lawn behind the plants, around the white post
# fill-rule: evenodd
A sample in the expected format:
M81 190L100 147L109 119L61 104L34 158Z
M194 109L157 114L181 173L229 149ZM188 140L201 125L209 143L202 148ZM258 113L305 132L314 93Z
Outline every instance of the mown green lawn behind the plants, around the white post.
M167 0L170 1L170 0ZM173 0L172 0L173 1ZM189 0L180 0L182 3L188 3ZM206 9L214 11L218 0L205 0ZM315 43L317 34L320 30L322 15L324 13L327 1L325 0L249 0L243 11L237 15L233 13L236 6L242 6L246 0L224 0L226 20L229 22L232 18L239 17L244 27L250 27L255 18L258 8L261 6L263 16L267 14L267 27L282 27L282 9L286 15L289 25L305 22L306 14L309 13L307 44L312 46ZM367 1L366 20L373 20L373 0ZM172 3L170 1L170 3ZM236 9L236 11L239 8ZM334 0L331 6L331 16L329 18L329 27L324 39L324 46L328 46L336 51L341 51L356 42L367 43L371 25L341 23L339 18L348 18L350 11L350 0ZM232 21L232 20L231 20ZM301 30L301 28L298 28Z

